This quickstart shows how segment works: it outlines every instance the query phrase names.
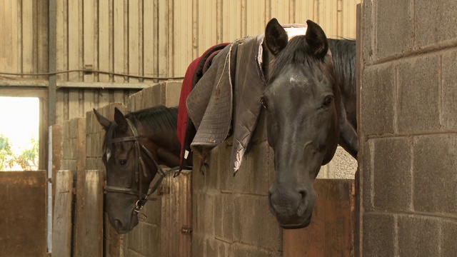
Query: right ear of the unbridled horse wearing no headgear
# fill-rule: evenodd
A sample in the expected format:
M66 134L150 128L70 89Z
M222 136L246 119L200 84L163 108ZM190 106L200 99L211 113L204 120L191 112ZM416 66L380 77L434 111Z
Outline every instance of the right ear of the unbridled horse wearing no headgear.
M306 29L306 43L311 46L313 55L318 59L323 59L328 51L328 41L325 32L321 26L313 21L306 21L308 28Z

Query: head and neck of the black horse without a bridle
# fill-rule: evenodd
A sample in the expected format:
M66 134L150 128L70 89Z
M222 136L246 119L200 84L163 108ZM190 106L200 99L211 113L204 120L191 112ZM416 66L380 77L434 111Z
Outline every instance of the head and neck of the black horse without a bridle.
M310 223L313 181L338 143L354 158L358 152L356 43L327 39L318 24L306 23L306 35L290 41L276 19L265 31L265 44L274 56L261 97L276 170L268 198L283 228Z

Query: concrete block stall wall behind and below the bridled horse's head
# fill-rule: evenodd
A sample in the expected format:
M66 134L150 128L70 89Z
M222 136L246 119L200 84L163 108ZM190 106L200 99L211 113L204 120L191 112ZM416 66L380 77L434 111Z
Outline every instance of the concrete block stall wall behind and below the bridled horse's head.
M114 119L114 107L117 107L124 114L129 111L137 111L152 106L178 106L179 95L181 92L181 81L167 81L161 84L155 84L149 88L143 89L136 94L129 96L126 106L122 103L111 103L104 106L98 111L108 117L111 121ZM102 143L105 131L96 120L93 111L86 113L86 169L104 170L104 164L101 161ZM73 126L67 126L68 129ZM68 131L70 133L70 131ZM64 144L65 147L65 144ZM71 153L69 149L69 153ZM69 165L74 165L69 162ZM155 194L151 196L157 198ZM161 253L161 201L149 201L141 211L146 218L139 222L139 225L133 231L119 235L111 227L107 216L105 216L104 252L107 257L143 257L143 256L160 256Z

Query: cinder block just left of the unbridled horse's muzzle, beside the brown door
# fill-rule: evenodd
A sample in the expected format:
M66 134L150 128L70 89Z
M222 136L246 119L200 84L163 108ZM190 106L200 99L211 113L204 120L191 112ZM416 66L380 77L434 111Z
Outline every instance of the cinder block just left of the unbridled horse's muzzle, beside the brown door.
M268 197L238 196L233 213L235 241L271 251L282 249L282 228L268 210Z

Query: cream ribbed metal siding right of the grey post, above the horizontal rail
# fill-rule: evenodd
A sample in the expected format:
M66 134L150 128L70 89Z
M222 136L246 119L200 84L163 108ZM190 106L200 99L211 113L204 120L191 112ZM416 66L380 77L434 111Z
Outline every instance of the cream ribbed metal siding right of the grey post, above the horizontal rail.
M355 38L360 0L175 0L57 3L57 69L96 69L141 76L184 76L190 62L223 41L282 24L318 22L330 37ZM349 19L349 17L351 17ZM82 35L82 36L81 36ZM106 74L63 74L59 80L141 82Z

